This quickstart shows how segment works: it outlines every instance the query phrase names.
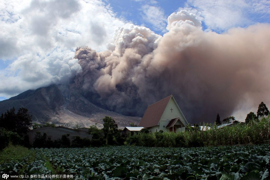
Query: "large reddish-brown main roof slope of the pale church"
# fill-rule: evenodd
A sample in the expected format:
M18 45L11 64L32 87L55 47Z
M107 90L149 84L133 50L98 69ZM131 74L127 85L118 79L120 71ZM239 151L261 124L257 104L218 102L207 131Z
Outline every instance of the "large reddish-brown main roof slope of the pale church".
M157 126L167 104L169 103L172 97L173 95L170 95L148 106L138 126L142 126L144 128Z

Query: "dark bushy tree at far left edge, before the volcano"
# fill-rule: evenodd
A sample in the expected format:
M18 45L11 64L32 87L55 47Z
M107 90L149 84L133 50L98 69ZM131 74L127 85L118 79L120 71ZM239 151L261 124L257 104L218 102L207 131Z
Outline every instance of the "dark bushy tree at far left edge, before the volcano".
M1 115L0 126L18 134L26 133L32 126L32 116L29 115L28 109L23 107L15 114L13 107Z

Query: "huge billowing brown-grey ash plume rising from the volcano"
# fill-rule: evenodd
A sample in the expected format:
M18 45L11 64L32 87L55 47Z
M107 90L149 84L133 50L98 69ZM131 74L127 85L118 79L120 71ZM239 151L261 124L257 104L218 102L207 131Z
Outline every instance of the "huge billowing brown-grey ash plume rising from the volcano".
M137 116L173 94L189 122L225 118L247 102L270 103L269 25L204 32L182 10L169 16L167 29L161 37L131 25L115 33L107 51L77 48L76 86L110 110Z

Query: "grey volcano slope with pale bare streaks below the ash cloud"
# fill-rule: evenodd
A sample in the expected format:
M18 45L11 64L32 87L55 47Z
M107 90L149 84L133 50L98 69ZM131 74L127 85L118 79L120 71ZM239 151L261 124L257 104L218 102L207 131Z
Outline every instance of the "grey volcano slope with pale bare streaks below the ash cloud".
M56 125L69 123L70 128L79 125L89 127L97 125L103 127L103 118L112 117L118 126L125 127L131 122L138 124L140 117L124 116L109 110L97 107L84 98L78 91L62 85L28 90L8 100L0 101L0 113L5 113L15 107L25 107L32 115L32 122L51 122Z

